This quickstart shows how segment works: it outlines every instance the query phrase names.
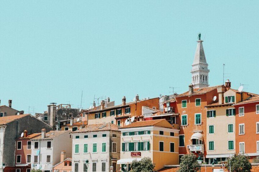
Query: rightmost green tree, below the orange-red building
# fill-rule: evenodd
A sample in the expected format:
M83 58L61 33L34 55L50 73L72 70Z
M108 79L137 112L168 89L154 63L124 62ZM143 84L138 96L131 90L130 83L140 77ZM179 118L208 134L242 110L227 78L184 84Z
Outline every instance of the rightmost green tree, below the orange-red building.
M230 165L229 165L230 160ZM227 159L226 168L232 172L250 172L252 165L249 162L249 156L243 154L235 154L233 157Z

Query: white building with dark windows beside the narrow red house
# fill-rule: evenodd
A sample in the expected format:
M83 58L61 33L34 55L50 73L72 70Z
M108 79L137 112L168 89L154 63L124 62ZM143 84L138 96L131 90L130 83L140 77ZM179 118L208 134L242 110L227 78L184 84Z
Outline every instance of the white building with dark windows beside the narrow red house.
M71 155L72 139L71 131L50 131L31 139L31 169L41 169L51 172L55 164L60 162L60 152L66 151Z

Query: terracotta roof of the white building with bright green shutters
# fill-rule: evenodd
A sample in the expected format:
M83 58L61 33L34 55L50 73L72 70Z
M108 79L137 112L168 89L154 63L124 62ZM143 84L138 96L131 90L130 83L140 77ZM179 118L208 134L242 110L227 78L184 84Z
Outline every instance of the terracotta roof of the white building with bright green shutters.
M79 129L72 133L83 133L83 132L100 132L100 131L119 131L118 126L115 124L91 124L86 125L85 128Z

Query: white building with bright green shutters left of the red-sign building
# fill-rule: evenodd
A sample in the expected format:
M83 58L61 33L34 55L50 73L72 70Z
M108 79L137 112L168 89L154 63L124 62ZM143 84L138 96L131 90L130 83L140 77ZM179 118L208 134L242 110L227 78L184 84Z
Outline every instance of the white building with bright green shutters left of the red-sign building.
M120 136L118 126L111 123L86 125L72 132L72 171L85 172L86 160L87 172L109 172L111 166L119 170Z

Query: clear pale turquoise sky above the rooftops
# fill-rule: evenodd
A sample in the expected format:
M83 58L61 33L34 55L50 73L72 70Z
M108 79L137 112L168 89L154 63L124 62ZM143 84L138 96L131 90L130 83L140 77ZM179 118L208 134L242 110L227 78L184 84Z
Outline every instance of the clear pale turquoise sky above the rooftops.
M25 113L188 90L201 33L210 86L259 93L259 1L0 2L0 99ZM96 100L97 101L97 100ZM30 109L29 109L30 107ZM34 107L34 111L33 111Z

